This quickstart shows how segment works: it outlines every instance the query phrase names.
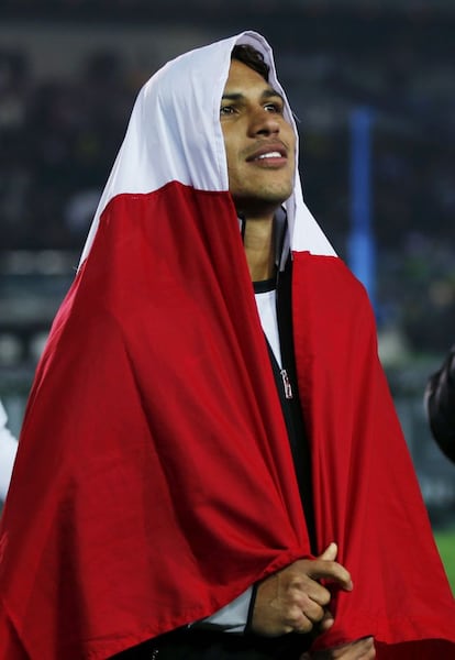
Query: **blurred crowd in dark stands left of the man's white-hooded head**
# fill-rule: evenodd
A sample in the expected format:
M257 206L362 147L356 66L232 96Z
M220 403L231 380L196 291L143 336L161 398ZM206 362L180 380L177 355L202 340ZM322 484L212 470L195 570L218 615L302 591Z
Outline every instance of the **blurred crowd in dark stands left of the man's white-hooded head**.
M0 52L3 250L80 248L132 86L115 53L90 55L78 78L36 80L26 53Z

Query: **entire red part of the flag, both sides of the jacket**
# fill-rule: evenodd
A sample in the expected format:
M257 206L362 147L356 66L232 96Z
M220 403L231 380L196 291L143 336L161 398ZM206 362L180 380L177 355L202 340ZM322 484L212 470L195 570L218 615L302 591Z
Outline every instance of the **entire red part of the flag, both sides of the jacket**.
M355 584L321 644L454 641L365 293L308 253L293 293L318 540ZM0 535L2 660L107 658L309 554L228 194L174 183L104 210L36 372Z

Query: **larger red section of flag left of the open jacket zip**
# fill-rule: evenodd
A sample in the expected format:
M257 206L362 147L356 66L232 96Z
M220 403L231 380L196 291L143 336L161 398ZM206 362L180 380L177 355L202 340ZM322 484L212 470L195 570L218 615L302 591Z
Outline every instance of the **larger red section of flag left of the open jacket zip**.
M274 388L230 196L115 198L37 369L2 519L0 593L31 658L106 658L308 552Z

